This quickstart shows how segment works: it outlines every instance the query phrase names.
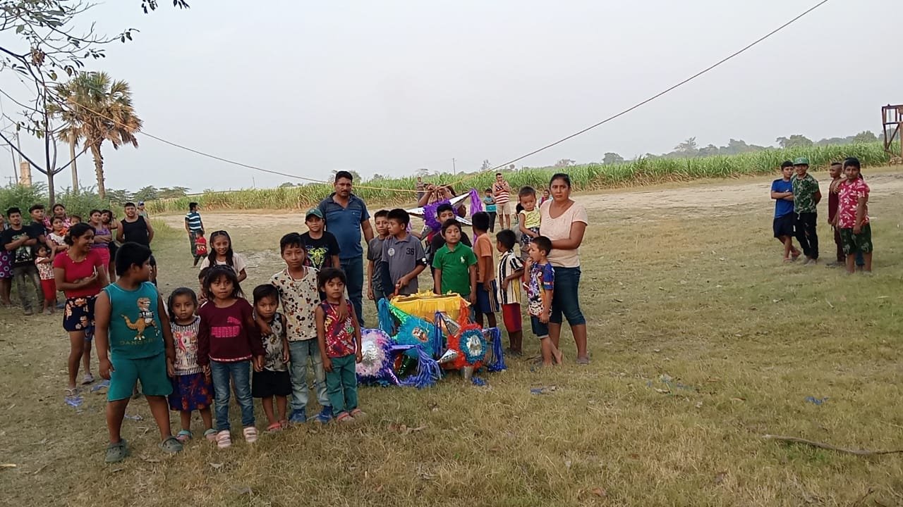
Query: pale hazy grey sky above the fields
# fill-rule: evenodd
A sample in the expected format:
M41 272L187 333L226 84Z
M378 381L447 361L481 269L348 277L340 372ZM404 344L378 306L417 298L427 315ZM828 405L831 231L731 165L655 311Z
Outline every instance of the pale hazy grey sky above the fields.
M179 10L163 0L143 14L140 0L107 0L88 15L98 31L141 32L88 69L131 84L145 132L219 157L315 180L452 171L452 159L474 171L655 95L815 3L191 0ZM897 8L831 0L683 88L517 165L669 152L691 136L771 145L878 133L880 106L903 103L903 66L889 63L898 37L883 23ZM9 76L0 86L26 91ZM301 182L139 142L105 145L107 188ZM41 153L31 139L23 148ZM91 184L90 160L79 162ZM0 151L0 177L10 175Z

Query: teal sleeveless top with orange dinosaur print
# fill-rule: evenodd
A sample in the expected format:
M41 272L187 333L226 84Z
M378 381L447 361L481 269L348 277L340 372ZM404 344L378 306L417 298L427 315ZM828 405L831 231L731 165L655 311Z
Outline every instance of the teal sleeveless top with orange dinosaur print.
M109 346L113 357L141 359L163 352L159 293L144 281L135 290L112 283L104 288L110 299Z

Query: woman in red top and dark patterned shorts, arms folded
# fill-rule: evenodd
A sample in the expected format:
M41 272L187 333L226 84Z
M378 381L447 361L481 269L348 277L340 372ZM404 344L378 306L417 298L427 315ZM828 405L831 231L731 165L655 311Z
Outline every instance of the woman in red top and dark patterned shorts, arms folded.
M94 244L94 228L88 224L71 226L66 235L69 249L53 259L53 278L57 290L66 295L66 309L62 314L62 327L69 332L69 387L68 396L76 394L75 380L79 376L79 359L85 364L82 383L94 382L91 374L91 338L94 337L94 300L107 286L104 263Z

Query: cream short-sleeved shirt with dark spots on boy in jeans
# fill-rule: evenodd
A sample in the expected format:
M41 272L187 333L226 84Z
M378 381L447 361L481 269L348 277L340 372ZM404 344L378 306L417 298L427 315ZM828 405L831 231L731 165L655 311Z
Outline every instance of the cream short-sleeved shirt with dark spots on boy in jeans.
M270 284L279 290L285 316L285 336L290 342L317 338L317 323L313 310L320 304L320 290L317 290L317 270L309 267L307 274L295 280L288 268L275 273Z

